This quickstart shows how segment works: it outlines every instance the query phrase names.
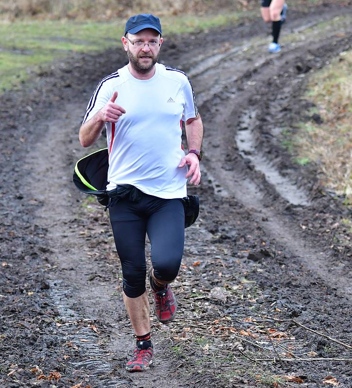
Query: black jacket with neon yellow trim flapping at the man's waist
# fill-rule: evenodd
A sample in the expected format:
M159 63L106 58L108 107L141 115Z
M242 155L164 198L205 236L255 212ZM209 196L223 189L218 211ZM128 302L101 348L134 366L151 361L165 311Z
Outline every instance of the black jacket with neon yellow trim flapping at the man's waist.
M99 149L81 158L75 166L73 182L82 193L96 195L98 202L107 207L109 195L108 184L109 153L108 148ZM122 185L121 185L122 186ZM130 186L130 185L123 185ZM126 190L128 187L121 187ZM109 193L115 190L111 190ZM130 190L127 190L130 191ZM120 196L120 193L116 193ZM194 224L199 214L199 197L188 195L181 199L185 209L185 228Z

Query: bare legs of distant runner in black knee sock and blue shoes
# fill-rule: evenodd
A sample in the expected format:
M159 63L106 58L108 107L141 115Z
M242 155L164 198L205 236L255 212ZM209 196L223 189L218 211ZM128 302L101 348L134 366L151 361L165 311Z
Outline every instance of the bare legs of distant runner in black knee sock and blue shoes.
M287 12L285 0L261 0L260 12L266 23L272 22L272 43L269 45L269 52L279 52L279 35Z

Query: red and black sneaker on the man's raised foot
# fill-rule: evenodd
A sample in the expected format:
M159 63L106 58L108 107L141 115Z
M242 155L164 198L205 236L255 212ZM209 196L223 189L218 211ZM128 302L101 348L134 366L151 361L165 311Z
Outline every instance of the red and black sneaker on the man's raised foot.
M151 271L149 272L150 289L154 294L154 311L161 323L169 323L174 320L177 311L177 301L170 285L165 284L164 290L156 291L152 283Z

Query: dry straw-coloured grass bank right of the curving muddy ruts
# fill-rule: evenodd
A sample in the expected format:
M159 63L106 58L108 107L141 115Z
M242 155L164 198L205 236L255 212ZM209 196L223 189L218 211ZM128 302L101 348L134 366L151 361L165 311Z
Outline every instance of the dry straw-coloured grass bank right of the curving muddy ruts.
M318 164L322 184L352 204L352 51L343 52L333 63L315 73L307 97L314 102L316 121L301 126L295 144L299 160ZM318 118L318 120L317 120Z

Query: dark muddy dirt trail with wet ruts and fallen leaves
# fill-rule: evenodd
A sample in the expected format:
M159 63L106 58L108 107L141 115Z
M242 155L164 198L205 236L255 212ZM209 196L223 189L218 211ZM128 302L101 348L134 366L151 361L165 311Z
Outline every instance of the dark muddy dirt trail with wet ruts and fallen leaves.
M310 74L351 48L351 7L313 10L290 11L276 55L259 19L165 40L206 132L179 312L151 317L146 373L124 369L134 339L108 214L71 182L86 103L124 53L76 56L0 97L0 387L351 387L352 250L338 242L351 212L282 146L310 119Z

